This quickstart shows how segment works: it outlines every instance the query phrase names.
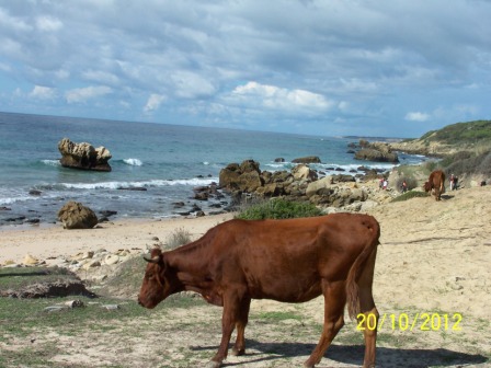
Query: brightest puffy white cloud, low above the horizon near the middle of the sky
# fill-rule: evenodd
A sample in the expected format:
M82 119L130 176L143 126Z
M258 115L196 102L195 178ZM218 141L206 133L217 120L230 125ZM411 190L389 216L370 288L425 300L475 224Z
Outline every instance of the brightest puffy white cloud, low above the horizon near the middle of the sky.
M261 84L254 81L238 85L231 97L244 104L261 104L272 110L329 110L333 102L323 95L305 90L288 90L275 85Z

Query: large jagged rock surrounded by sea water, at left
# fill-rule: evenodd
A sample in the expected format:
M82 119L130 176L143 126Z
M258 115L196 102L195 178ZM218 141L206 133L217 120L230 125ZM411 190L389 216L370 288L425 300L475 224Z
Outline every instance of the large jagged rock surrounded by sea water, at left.
M107 161L112 156L105 147L94 148L90 143L75 143L64 138L58 142L58 150L61 153L59 162L64 168L111 171Z

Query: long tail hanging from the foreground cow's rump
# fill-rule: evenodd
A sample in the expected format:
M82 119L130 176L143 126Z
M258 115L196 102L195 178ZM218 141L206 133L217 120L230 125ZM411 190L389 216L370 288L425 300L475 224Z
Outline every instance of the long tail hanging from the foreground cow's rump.
M380 238L380 226L378 225L377 220L375 220L375 218L369 217L369 220L364 220L363 225L368 229L368 233L370 234L368 237L369 241L366 243L365 248L362 250L362 252L358 254L355 262L351 266L346 278L346 302L347 312L351 319L356 319L357 314L359 313L359 276L365 269L365 266L367 266L367 260L370 257L370 254L376 251L377 245L379 244L378 239ZM375 254L373 261L370 260L370 262L375 264ZM370 265L372 268L374 267L374 264ZM373 275L370 275L370 283L372 278Z

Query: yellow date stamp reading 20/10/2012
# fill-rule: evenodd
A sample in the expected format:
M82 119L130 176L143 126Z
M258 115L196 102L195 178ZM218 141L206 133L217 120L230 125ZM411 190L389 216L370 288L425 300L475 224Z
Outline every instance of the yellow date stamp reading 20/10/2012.
M388 327L392 331L461 331L460 322L461 313L416 313L414 315L408 313L384 313L377 317L374 313L356 315L358 331L380 331Z

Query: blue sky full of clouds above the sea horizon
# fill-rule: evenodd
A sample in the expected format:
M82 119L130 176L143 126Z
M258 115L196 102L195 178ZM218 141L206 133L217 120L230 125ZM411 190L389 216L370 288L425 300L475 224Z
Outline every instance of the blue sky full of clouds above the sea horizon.
M491 119L490 0L0 0L0 111L318 136Z

